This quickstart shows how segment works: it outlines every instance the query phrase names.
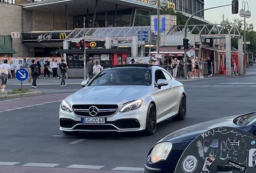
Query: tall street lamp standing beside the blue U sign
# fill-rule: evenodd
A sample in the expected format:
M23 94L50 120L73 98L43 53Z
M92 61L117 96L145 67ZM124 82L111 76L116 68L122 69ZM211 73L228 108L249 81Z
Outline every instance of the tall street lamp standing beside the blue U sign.
M157 54L160 54L160 6L166 7L168 0L149 0L149 4L157 4Z

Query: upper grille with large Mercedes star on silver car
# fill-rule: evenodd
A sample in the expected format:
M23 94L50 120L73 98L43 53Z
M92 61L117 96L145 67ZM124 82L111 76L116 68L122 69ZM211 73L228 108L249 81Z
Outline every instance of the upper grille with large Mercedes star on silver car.
M91 107L97 108L97 114L91 115L89 112L92 111ZM118 105L73 105L72 109L76 115L85 117L104 117L114 115L118 110ZM89 111L90 109L90 111Z

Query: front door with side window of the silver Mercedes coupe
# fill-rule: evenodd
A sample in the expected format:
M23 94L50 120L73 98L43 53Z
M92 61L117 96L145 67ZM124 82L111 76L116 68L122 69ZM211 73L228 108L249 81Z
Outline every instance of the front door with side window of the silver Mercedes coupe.
M166 107L166 105L167 105L166 101L168 101L169 96L166 95L166 93L168 93L170 88L169 88L169 85L167 85L167 86L163 86L163 87L161 87L161 89L159 89L157 87L157 80L158 79L166 80L166 78L161 69L156 69L154 73L155 74L153 75L153 78L154 78L153 82L155 82L155 88L153 89L154 92L152 94L152 97L155 99L155 102L156 102L157 119L159 119L168 113L169 107Z

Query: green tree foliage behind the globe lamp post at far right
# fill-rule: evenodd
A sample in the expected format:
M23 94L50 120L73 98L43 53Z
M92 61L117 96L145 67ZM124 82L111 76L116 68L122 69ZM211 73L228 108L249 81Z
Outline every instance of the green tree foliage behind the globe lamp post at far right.
M227 19L227 24L231 24L231 22ZM233 23L235 23L239 33L244 36L244 20L243 19L234 19ZM228 27L228 29L231 29L231 26ZM224 32L224 34L227 31ZM248 24L246 22L246 41L249 41L250 44L246 45L246 49L250 50L254 54L256 54L256 31L254 31L253 24ZM236 48L238 47L238 40L237 39L231 39L231 46Z

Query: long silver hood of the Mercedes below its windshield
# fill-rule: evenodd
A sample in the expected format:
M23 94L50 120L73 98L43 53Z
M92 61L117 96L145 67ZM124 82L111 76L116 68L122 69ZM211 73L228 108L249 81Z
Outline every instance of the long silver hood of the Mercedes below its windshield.
M151 89L151 86L89 86L74 93L72 97L68 98L68 102L101 100L126 103L141 99Z

